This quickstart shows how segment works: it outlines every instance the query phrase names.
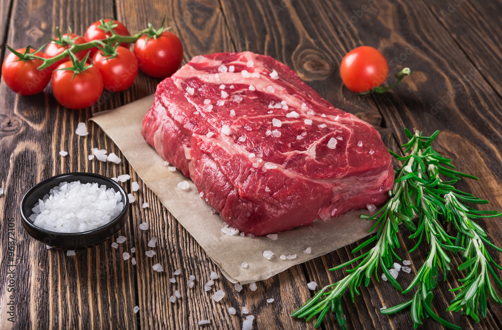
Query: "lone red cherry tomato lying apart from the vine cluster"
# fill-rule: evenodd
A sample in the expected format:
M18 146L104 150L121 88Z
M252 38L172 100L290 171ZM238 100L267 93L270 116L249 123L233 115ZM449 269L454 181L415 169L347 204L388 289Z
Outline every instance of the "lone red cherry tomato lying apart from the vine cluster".
M351 91L367 92L387 80L389 63L377 49L361 46L343 57L340 75L345 86Z

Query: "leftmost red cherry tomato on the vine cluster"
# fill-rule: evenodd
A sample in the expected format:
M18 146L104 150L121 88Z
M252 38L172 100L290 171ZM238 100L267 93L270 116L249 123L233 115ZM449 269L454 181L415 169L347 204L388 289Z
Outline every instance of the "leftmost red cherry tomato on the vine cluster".
M17 49L16 52L25 54L26 49ZM34 49L30 49L33 54ZM43 57L41 52L35 55ZM2 77L5 83L14 92L21 95L33 95L40 93L51 80L52 69L49 67L44 70L38 70L42 65L42 60L19 60L19 57L10 53L2 64Z

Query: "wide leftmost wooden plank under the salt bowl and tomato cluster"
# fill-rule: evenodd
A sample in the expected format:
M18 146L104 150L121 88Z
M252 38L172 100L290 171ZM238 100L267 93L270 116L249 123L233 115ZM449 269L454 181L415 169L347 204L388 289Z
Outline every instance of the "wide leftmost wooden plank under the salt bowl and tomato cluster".
M15 1L8 44L14 48L28 44L39 46L44 43L39 35L54 37L56 26L64 31L71 25L74 31L83 32L92 22L112 15L113 8L99 1ZM0 186L6 191L0 198L0 211L3 220L14 219L16 239L12 261L16 264L16 322L12 324L2 317L0 327L136 327L136 317L129 312L136 304L135 273L130 264L120 262L122 246L115 250L107 241L67 257L64 250L47 250L45 244L28 236L21 226L18 211L21 198L37 182L73 171L116 177L129 170L127 162L115 165L87 159L91 147L106 148L121 155L97 127L87 124L89 135L85 137L74 133L78 122L86 121L92 111L101 107L97 105L81 111L63 109L49 90L23 97L10 91L4 82L0 83L0 116L3 121L10 119L12 123L0 132L3 159ZM59 156L59 150L68 151L68 155ZM0 222L2 233L7 232L7 226L8 222ZM119 234L132 241L129 226ZM7 240L8 236L2 235L2 274L7 274L8 269ZM7 278L2 276L0 287L6 285ZM2 290L0 309L3 315L6 315L4 311L9 301L7 290Z

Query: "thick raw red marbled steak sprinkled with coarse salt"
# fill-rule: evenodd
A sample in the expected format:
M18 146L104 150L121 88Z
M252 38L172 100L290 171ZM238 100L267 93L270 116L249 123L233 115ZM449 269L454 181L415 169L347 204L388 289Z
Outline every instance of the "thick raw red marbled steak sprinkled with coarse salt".
M382 204L394 182L371 125L251 52L196 56L162 81L143 135L245 234Z

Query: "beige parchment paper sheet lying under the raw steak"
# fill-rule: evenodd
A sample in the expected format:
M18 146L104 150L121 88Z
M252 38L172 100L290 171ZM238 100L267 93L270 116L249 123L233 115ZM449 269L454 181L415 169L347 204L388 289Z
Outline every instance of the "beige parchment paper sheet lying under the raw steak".
M221 232L223 220L218 214L211 214L211 207L199 197L195 185L181 172L170 172L162 166L162 157L143 138L142 120L153 99L154 95L147 96L117 109L97 113L91 120L117 144L143 182L232 283L246 284L267 279L368 235L367 230L373 221L360 219L361 211L353 211L326 222L316 220L310 227L279 233L276 241L267 237L226 236ZM178 183L183 180L189 181L188 190L178 188ZM368 214L367 211L362 213ZM311 254L303 253L307 247L311 247ZM274 252L270 260L263 256L266 250ZM282 254L296 254L297 257L282 260L279 258ZM242 262L247 262L248 267L242 268Z

